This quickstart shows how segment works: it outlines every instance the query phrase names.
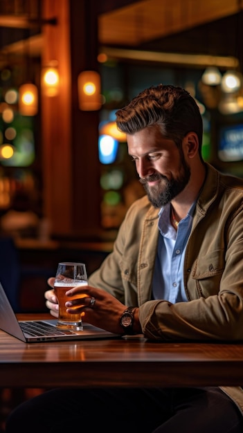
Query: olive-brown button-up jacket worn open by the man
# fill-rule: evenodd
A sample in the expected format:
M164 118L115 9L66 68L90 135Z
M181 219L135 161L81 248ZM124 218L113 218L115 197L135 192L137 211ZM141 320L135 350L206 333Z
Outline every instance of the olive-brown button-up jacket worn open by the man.
M151 300L158 213L147 196L129 208L114 251L89 284L104 288L127 306L139 306L139 320L149 339L243 340L243 180L207 165L186 247L188 302ZM243 410L242 389L227 389L230 395L240 394L237 403Z

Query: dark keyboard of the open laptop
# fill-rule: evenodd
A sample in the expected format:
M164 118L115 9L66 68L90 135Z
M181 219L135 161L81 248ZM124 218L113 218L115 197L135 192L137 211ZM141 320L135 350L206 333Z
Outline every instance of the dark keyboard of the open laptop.
M73 334L71 331L61 331L48 323L41 321L35 322L19 322L21 330L28 333L32 337L45 337L48 335L69 335Z

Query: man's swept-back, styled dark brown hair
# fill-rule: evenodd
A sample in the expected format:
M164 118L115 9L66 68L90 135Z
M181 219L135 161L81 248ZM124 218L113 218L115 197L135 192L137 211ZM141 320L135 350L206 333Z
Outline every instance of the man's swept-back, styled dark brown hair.
M159 84L145 89L116 111L116 124L129 134L159 125L163 136L173 140L179 149L186 134L193 131L198 136L201 157L201 114L195 99L181 87Z

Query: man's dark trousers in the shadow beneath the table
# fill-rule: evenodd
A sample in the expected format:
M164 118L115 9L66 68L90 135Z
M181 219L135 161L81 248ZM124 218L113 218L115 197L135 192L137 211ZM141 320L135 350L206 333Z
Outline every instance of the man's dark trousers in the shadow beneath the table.
M53 389L18 406L6 433L240 433L240 410L217 387Z

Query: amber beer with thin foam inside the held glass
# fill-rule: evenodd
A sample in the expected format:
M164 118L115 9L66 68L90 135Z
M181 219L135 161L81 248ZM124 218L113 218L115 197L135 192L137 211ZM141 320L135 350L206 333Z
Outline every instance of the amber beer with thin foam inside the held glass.
M57 326L58 327L69 327L70 325L73 325L73 327L75 329L77 329L77 326L82 326L82 320L81 320L81 315L80 313L77 314L71 314L71 313L67 313L66 312L66 306L65 303L67 301L71 301L71 300L75 300L78 299L80 297L86 297L87 295L74 295L72 297L70 296L66 296L65 293L66 291L69 291L71 288L75 287L75 286L87 286L87 282L84 281L80 281L80 282L75 282L75 284L64 284L62 281L61 282L55 282L54 284L54 292L55 295L57 297L57 302L59 304L59 317L58 317L58 322L57 322Z

